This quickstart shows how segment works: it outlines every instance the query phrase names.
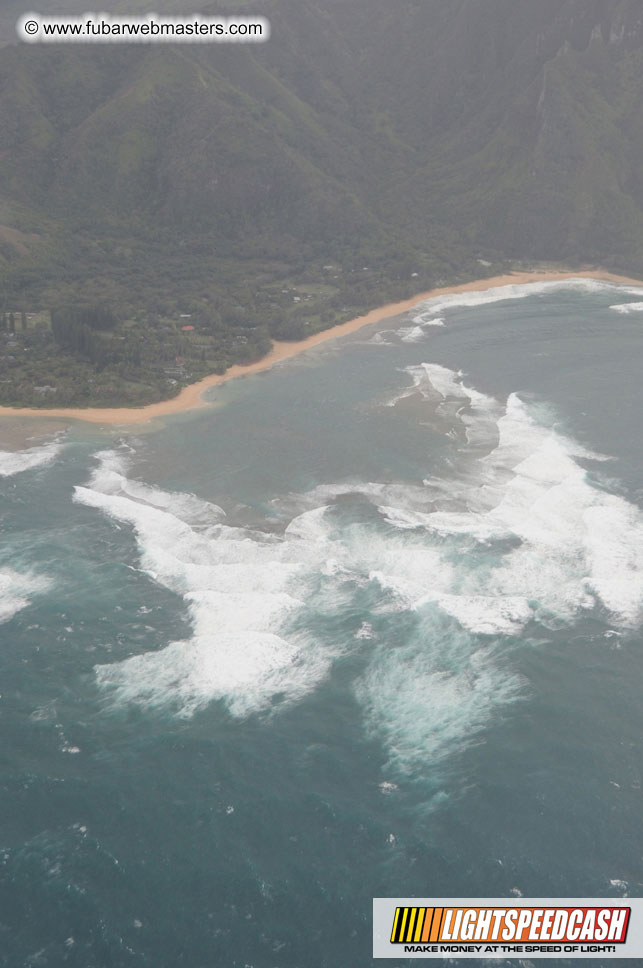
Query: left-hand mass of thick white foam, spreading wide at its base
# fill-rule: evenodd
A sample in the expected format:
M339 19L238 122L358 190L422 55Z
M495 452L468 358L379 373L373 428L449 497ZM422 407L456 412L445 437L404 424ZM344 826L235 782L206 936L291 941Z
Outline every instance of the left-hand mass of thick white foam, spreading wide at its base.
M183 715L213 699L247 715L277 695L293 700L313 688L330 656L285 626L305 607L312 561L319 570L324 559L323 509L301 515L283 539L223 524L199 531L185 520L193 501L186 514L183 496L124 479L114 461L101 455L92 486L77 487L74 499L133 526L142 567L183 596L193 634L99 666L99 684L117 700L171 705Z

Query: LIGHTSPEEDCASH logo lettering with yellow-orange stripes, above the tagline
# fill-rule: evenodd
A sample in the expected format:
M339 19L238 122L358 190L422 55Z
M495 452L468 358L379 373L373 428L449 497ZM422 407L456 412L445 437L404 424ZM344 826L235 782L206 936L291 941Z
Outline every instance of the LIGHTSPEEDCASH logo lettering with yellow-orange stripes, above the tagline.
M398 907L391 944L624 944L630 908Z

